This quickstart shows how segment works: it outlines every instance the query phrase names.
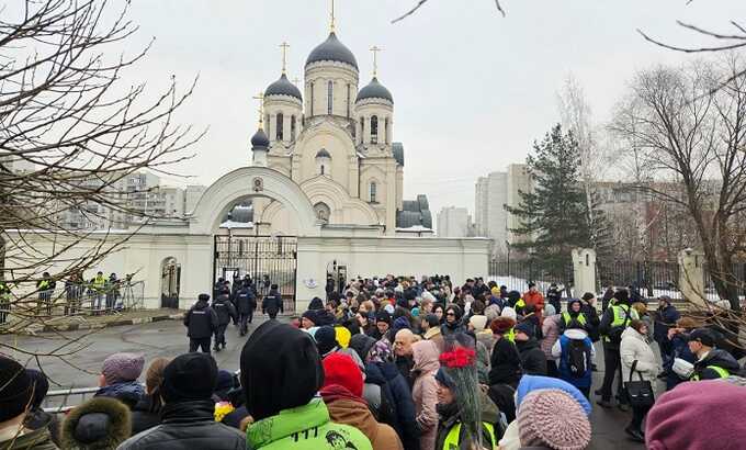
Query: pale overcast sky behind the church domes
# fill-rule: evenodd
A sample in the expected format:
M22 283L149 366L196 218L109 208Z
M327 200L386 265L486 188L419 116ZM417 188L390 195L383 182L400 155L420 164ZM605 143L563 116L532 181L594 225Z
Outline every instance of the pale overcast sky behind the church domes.
M430 0L397 24L415 0L337 0L337 31L355 54L361 88L371 78L369 48L380 55L380 80L395 101L394 140L405 145L405 199L426 193L442 206L474 210L476 178L522 162L534 139L558 121L556 94L573 74L595 120L604 122L636 70L692 58L662 49L643 29L676 44L709 42L676 20L730 31L746 19L744 0ZM140 0L131 19L140 30L133 50L156 42L133 82L154 90L176 75L196 92L179 121L208 134L196 157L179 167L194 176L174 183L210 184L247 165L257 128L251 100L280 76L279 44L291 44L290 78L303 78L313 47L328 34L329 0Z

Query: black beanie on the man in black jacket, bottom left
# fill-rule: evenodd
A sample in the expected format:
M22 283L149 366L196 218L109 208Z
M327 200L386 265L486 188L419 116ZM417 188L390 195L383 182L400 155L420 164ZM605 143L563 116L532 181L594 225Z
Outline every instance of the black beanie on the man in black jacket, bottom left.
M166 403L210 400L217 383L217 364L207 353L185 353L163 369L161 395Z

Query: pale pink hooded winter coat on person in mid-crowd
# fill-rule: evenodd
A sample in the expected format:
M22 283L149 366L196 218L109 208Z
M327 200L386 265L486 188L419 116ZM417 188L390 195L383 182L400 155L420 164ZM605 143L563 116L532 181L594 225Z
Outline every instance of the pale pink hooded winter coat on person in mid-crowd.
M419 425L422 436L420 437L420 449L432 450L438 435L438 382L436 373L440 369L438 362L438 347L432 341L422 340L411 346L415 360L412 373L417 374L411 390L411 397L415 401L417 412L417 425Z

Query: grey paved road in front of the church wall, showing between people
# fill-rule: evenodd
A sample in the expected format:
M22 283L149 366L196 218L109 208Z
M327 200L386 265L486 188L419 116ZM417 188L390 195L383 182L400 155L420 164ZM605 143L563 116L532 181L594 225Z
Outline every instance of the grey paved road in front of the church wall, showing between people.
M261 322L255 322L252 328ZM70 346L70 350L84 347L83 350L67 358L69 363L59 358L42 357L41 363L52 379L63 386L93 386L97 383L103 359L116 351L144 352L146 360L156 357L173 357L188 350L188 340L184 327L180 322L160 322L146 325L115 327L101 330L97 334L86 336L83 333L72 334L80 338L79 342ZM20 348L33 351L49 352L59 347L65 341L53 335L43 337L22 337L12 339L2 337L3 342L16 345ZM218 365L226 370L237 370L239 357L246 338L238 335L238 329L234 326L226 331L228 347L219 353L213 352ZM3 349L4 351L4 349ZM599 351L599 353L602 353ZM21 358L19 353L12 353L15 358ZM599 368L603 368L602 356L599 355ZM32 361L31 365L36 365ZM75 367L72 367L75 365ZM77 369L77 368L80 369ZM81 371L82 370L82 371ZM87 373L88 372L88 373ZM602 372L594 374L594 389L600 386ZM55 389L53 386L52 389ZM591 423L594 426L594 442L590 449L594 450L642 450L644 446L636 445L626 439L623 429L630 420L630 413L622 413L618 409L602 409L594 403Z

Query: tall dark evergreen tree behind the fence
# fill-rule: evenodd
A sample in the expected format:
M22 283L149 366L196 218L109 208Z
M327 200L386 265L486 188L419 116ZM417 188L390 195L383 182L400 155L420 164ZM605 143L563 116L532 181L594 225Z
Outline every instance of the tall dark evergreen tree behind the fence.
M521 236L513 248L529 252L542 269L556 277L565 275L572 262L572 250L578 247L598 248L598 238L608 236L600 212L589 223L588 202L580 183L580 153L570 132L563 133L560 124L541 143L534 143L534 154L527 158L531 192L520 192L518 207L506 206L521 226L511 229Z

